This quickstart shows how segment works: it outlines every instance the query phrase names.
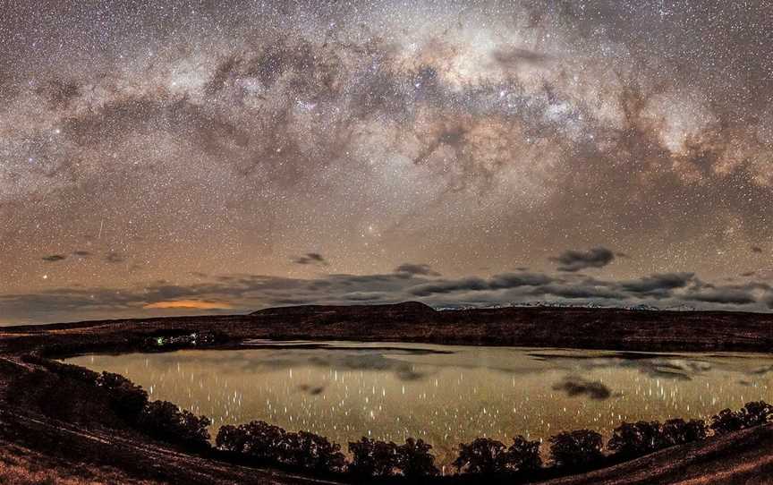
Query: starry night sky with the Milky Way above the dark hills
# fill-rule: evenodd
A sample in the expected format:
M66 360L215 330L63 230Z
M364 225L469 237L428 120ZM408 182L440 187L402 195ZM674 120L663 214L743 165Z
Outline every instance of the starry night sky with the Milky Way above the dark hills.
M0 2L0 324L773 308L773 4Z

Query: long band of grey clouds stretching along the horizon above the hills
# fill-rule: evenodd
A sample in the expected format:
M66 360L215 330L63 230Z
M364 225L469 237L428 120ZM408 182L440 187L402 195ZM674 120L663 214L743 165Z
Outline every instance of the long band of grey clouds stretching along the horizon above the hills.
M149 312L144 306L148 302L174 300L227 302L233 307L215 310L217 313L285 305L375 304L416 299L443 308L539 302L614 307L645 304L672 309L692 305L701 309L773 309L773 290L767 283L714 285L692 277L687 286L677 284L682 280L667 274L616 282L573 273L551 277L531 272L458 279L428 279L402 273L334 274L319 279L223 275L200 276L197 283L187 285L173 285L159 279L120 290L73 286L29 294L0 294L0 306L5 319L18 320L18 323L97 318L105 314L111 317L147 315ZM758 299L755 295L760 292L763 296ZM156 314L170 313L156 311Z

